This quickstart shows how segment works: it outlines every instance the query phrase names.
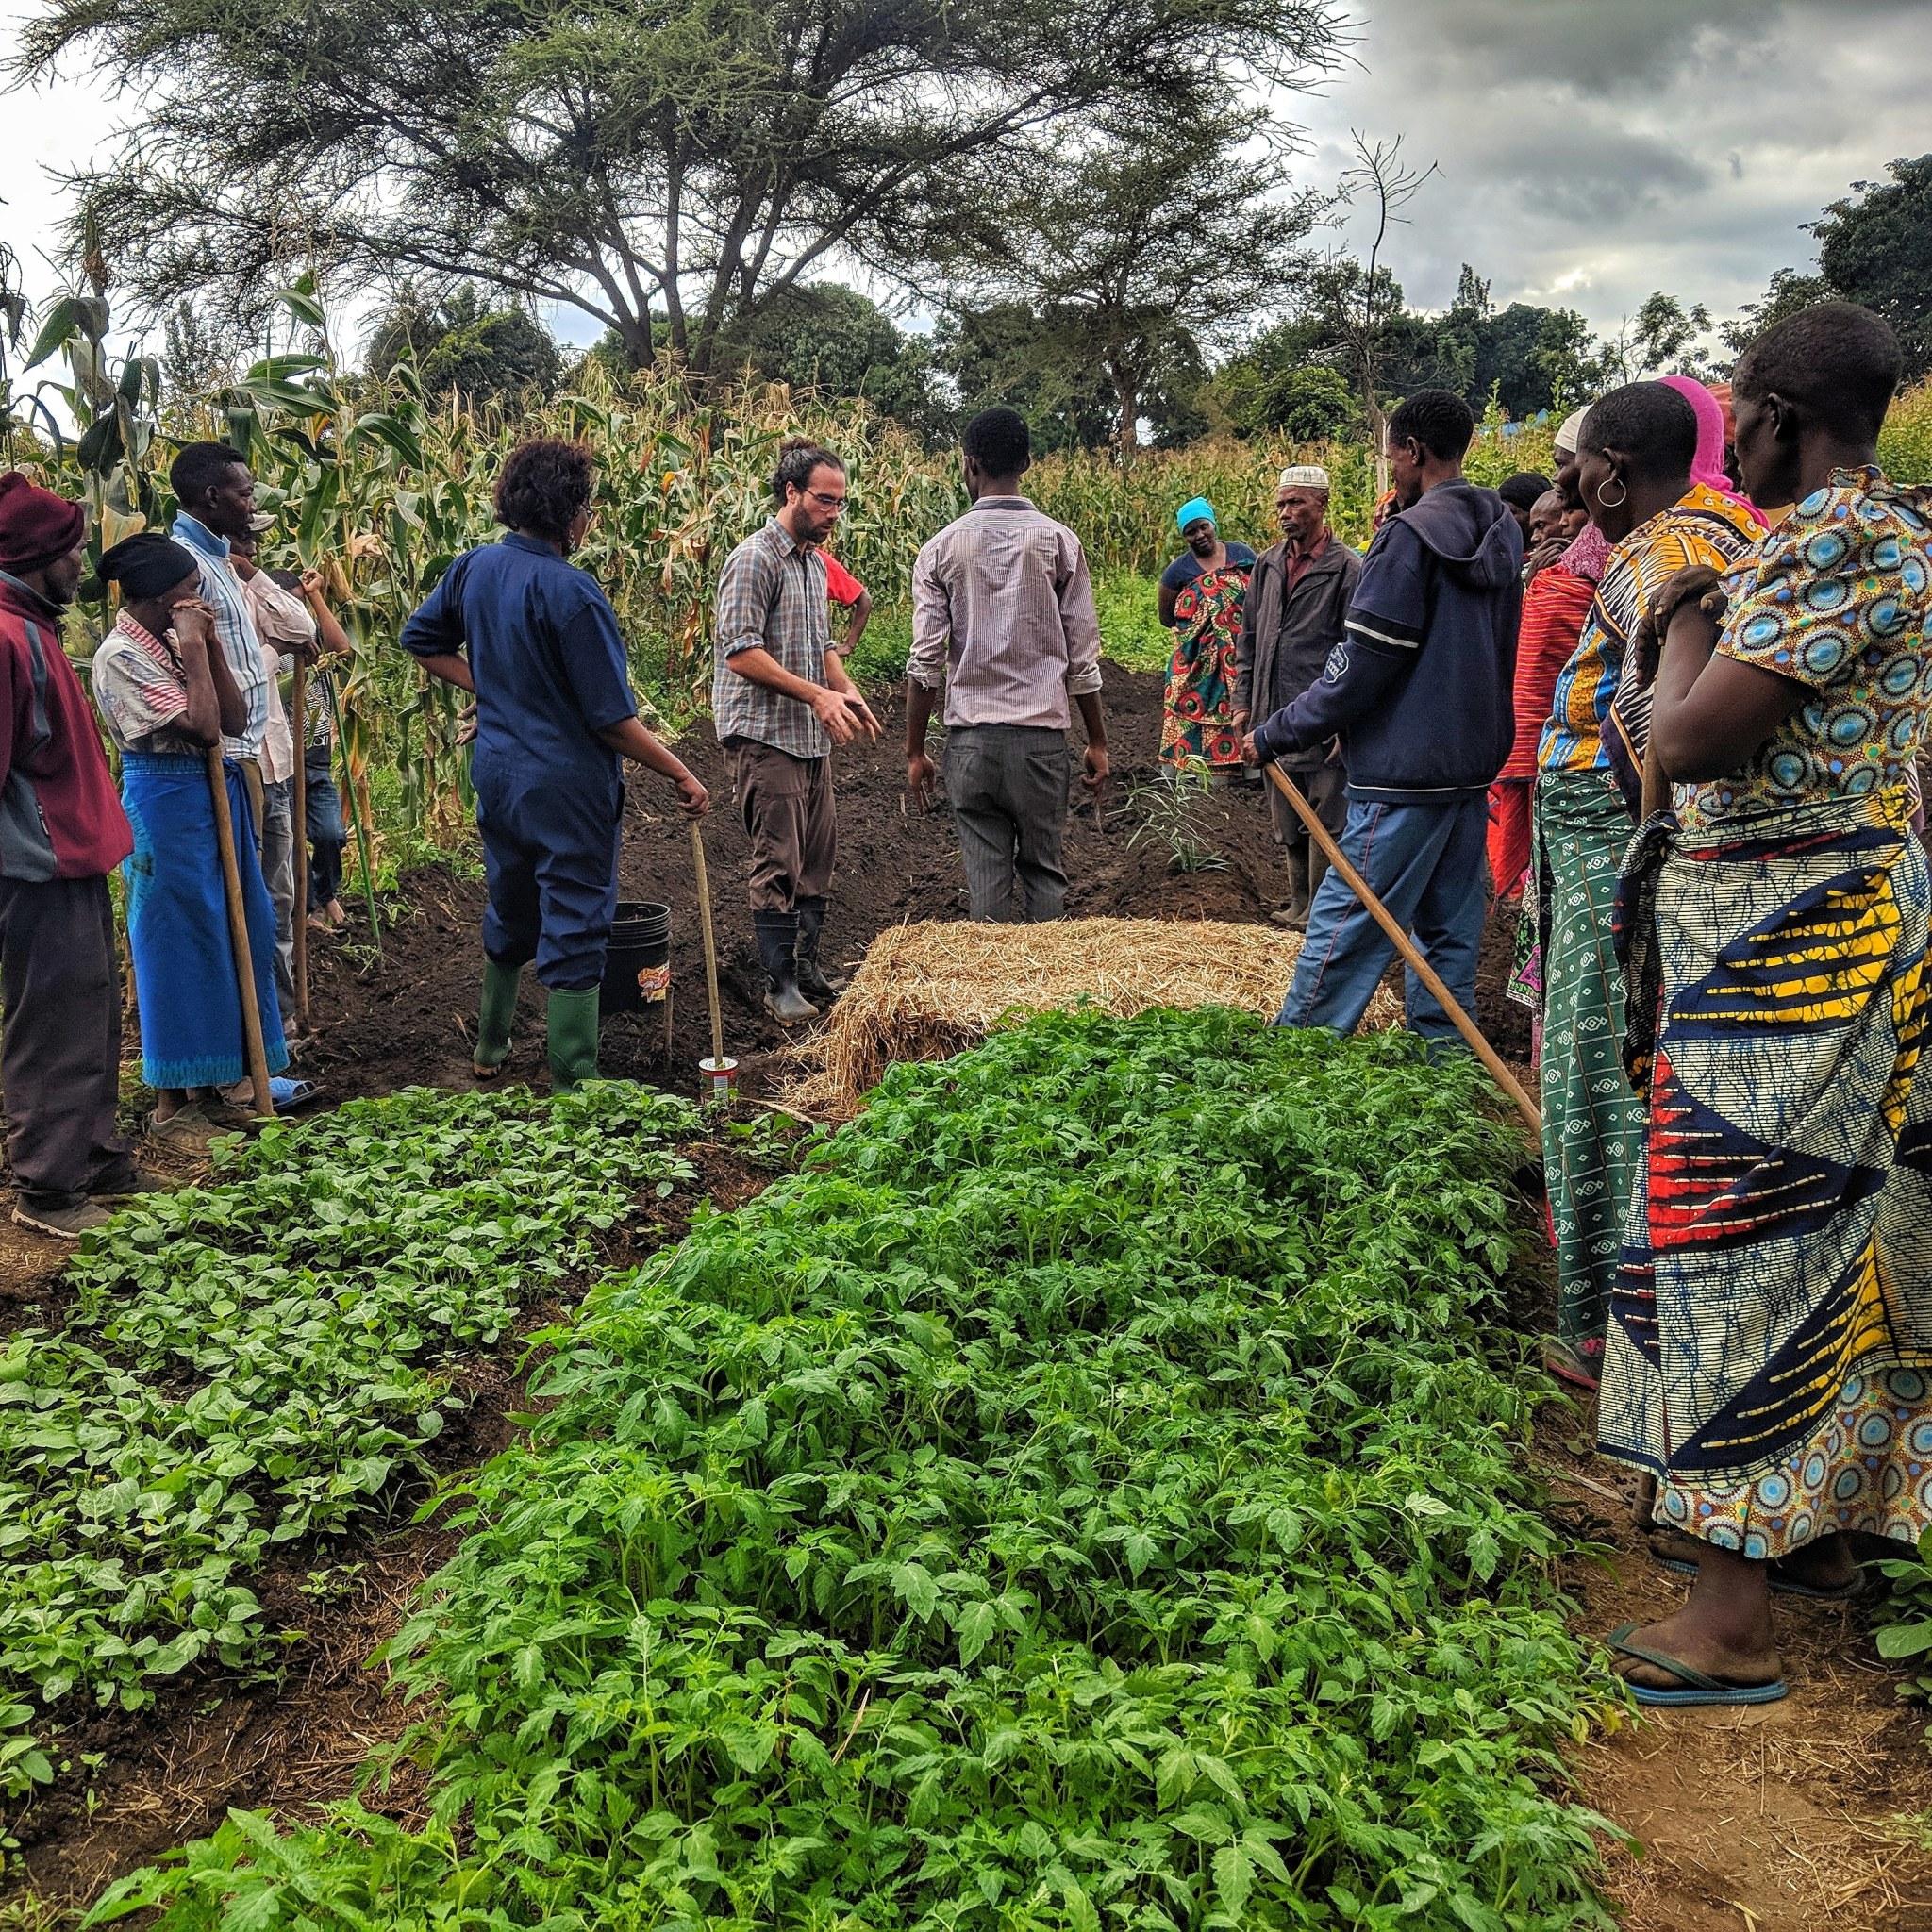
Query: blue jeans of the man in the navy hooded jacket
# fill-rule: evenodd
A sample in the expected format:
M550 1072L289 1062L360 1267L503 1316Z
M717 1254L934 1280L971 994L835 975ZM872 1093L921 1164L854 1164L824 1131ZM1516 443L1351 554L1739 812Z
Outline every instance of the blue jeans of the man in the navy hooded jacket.
M1482 866L1490 808L1482 792L1447 806L1349 800L1341 848L1370 891L1410 931L1463 1010L1476 1014L1482 945ZM1331 1026L1352 1034L1368 1012L1395 947L1339 871L1329 871L1308 910L1308 937L1277 1026ZM1410 972L1403 1009L1408 1030L1461 1045L1449 1014Z

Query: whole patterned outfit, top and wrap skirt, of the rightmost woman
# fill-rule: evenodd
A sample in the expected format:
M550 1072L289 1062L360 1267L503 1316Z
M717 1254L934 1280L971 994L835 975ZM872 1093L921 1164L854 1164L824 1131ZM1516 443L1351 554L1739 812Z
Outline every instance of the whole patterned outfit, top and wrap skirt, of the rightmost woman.
M1619 896L1648 1138L1600 1399L1658 1520L1748 1557L1932 1524L1924 495L1839 471L1727 582L1719 653L1814 692L1679 788Z

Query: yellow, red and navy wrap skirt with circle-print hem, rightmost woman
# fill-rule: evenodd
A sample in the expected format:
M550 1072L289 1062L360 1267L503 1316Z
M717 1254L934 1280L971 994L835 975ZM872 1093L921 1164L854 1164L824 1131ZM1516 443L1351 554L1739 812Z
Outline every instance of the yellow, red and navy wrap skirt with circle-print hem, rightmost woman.
M1932 885L1905 815L1897 786L1660 815L1633 848L1662 1003L1598 1435L1658 1476L1660 1522L1747 1557L1932 1524Z

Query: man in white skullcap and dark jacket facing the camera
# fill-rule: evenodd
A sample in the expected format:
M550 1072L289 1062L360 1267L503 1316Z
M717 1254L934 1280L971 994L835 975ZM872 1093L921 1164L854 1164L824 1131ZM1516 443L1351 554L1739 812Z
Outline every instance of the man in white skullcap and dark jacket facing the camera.
M1235 657L1236 732L1250 730L1256 721L1300 697L1341 643L1362 558L1329 529L1327 504L1329 473L1320 464L1291 464L1281 471L1275 487L1281 543L1256 558L1242 607ZM1277 763L1339 837L1349 817L1349 771L1339 746L1331 740ZM1289 902L1269 918L1302 931L1327 862L1273 784L1267 786L1267 811L1289 867Z

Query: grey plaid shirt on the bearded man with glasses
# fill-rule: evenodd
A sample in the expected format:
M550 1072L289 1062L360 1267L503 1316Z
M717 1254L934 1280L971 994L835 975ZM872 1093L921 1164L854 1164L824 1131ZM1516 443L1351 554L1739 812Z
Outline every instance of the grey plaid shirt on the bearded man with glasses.
M730 668L740 651L771 651L794 678L825 682L833 630L825 614L825 556L773 518L724 558L717 601L711 717L719 740L755 738L792 757L825 757L833 740L810 705Z

